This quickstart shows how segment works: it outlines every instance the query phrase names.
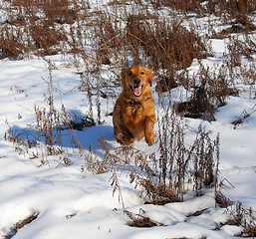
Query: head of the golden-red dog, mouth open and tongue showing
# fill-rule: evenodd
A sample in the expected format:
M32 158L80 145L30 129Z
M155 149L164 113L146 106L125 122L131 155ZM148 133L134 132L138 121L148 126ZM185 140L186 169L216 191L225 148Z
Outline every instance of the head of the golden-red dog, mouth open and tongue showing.
M133 66L122 71L124 89L130 98L139 99L147 94L152 86L152 72L141 66Z

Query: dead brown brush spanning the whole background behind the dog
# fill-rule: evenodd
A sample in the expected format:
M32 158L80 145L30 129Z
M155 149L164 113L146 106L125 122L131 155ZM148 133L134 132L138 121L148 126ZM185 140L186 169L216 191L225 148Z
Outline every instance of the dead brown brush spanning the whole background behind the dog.
M15 60L30 55L72 54L76 64L79 58L83 59L86 66L85 70L82 69L83 72L90 75L92 71L98 72L94 74L96 78L105 66L121 69L130 60L134 64L146 63L158 72L158 91L170 91L179 85L184 86L187 91L193 89L191 104L181 107L182 111L189 112L186 116L191 115L194 118L212 115L216 107L225 104L224 98L229 95L227 88L230 88L230 74L235 71L235 67L241 67L240 58L245 56L251 59L256 51L255 39L249 35L254 26L248 17L255 11L254 1L208 1L206 4L203 1L183 0L146 2L154 9L168 7L185 15L194 13L200 17L215 14L223 25L233 24L232 33L237 32L236 26L242 26L239 32L244 39L240 40L230 37L228 28L216 33L214 27L209 25L211 30L208 31L212 34L208 37L230 38L228 65L232 69L229 75L223 75L222 72L218 76L216 72L211 79L205 76L208 70L204 69L198 73L201 82L195 84L195 81L186 76L185 71L193 59L199 60L211 55L209 39L199 36L196 25L184 26L184 18L177 17L174 12L168 18L162 19L157 11L149 12L140 1L131 1L128 4L123 1L110 2L107 7L111 6L116 11L112 13L93 11L88 1L80 0L6 0L2 9L7 13L7 18L0 25L1 58ZM136 5L139 7L135 10ZM129 13L129 8L134 9L132 14ZM117 14L118 9L122 17ZM223 64L222 69L225 67L227 66ZM212 82L217 77L222 78L217 92L205 92L208 86L210 91L215 92ZM198 101L201 96L202 102ZM220 100L220 104L212 104L215 100ZM202 108L204 103L206 106ZM213 116L210 118L214 119Z

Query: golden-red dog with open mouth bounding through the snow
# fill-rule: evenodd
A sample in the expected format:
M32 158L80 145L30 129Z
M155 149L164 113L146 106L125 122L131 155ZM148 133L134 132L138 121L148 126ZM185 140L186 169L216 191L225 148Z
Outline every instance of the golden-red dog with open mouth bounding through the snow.
M145 138L148 145L154 141L154 101L150 92L152 72L142 66L122 70L123 92L113 112L114 132L117 141L130 144L134 139Z

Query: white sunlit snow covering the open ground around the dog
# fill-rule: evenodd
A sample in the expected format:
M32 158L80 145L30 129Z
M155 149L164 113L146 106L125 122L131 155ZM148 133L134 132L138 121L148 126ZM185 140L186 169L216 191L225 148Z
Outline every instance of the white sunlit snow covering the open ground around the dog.
M97 1L98 2L98 1ZM214 67L222 63L221 57L226 51L225 40L212 40L214 57L201 64ZM75 67L66 68L62 56L47 57L55 65L52 70L55 88L55 106L65 106L71 114L83 115L89 111L87 94L77 91L80 78ZM255 59L254 59L255 62ZM194 60L189 68L193 75L199 69ZM108 78L106 72L103 77ZM13 226L20 220L33 214L38 217L22 227L15 239L166 239L166 238L234 238L242 228L225 225L214 230L217 223L225 222L230 215L225 208L215 207L214 189L206 190L200 197L188 197L184 202L167 203L163 206L143 204L139 189L130 184L126 173L119 174L123 202L119 192L113 193L111 172L93 174L83 171L85 158L79 153L72 156L72 165L58 166L58 156L46 158L42 164L39 158L31 159L25 153L18 154L15 144L4 140L9 126L16 130L29 130L35 124L35 107L47 107L45 96L49 94L49 65L41 58L21 61L0 60L0 237L5 238ZM118 89L120 91L120 89ZM153 89L152 89L153 91ZM172 90L175 102L187 97L184 89ZM153 91L156 112L160 113L157 94ZM108 103L101 99L103 124L76 130L82 146L90 145L101 159L104 153L99 146L99 138L104 134L109 147L113 150L116 142L112 118L106 114L112 112L115 99ZM252 113L256 100L248 94L230 97L227 105L215 113L216 121L186 119L191 128L200 123L211 130L213 135L220 133L220 175L223 181L222 192L231 201L240 201L246 208L256 210L256 113L236 129L231 123L245 110ZM94 113L97 110L94 109ZM156 123L157 124L157 123ZM193 130L190 131L193 134ZM189 133L188 133L189 134ZM68 143L68 132L63 132ZM157 143L147 146L144 140L133 145L145 152L157 150ZM73 149L67 144L68 153ZM125 208L123 208L123 204ZM139 213L161 223L163 226L134 228L128 226L130 219L124 209ZM198 210L204 210L199 216L188 216Z

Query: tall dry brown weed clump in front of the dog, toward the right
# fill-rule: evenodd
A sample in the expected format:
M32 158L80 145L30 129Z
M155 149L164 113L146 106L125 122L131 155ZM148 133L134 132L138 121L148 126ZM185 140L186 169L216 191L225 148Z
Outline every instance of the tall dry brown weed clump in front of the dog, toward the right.
M168 109L158 119L158 152L146 154L132 146L122 145L111 151L104 138L101 139L105 159L86 164L96 173L111 171L114 192L122 193L119 171L127 171L130 183L141 188L146 203L162 205L182 201L187 191L200 195L203 189L217 183L219 160L219 137L210 138L210 132L198 128L190 146L185 144L185 125ZM94 165L94 167L91 167Z

